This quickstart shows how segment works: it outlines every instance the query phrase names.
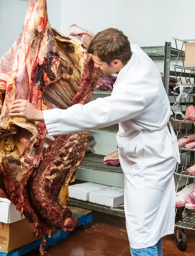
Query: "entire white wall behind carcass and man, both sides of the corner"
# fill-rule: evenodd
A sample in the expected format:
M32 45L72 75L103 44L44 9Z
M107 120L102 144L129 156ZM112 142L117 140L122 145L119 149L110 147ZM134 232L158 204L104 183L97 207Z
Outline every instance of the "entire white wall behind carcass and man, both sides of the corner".
M0 0L0 57L23 27L28 0ZM73 23L97 33L122 30L140 46L164 45L173 37L195 38L194 0L47 0L51 26L64 34ZM159 70L163 64L157 62Z

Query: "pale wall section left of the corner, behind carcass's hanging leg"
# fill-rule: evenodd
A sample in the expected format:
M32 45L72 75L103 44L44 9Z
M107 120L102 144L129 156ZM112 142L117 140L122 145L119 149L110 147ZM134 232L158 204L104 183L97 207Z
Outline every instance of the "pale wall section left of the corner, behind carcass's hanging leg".
M0 57L22 32L28 0L0 0ZM47 0L51 26L60 30L61 0Z

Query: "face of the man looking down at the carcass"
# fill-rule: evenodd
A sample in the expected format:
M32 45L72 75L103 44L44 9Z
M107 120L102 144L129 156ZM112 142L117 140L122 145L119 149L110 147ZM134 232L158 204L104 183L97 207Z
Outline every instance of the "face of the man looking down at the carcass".
M117 68L115 67L115 64L113 62L109 66L107 62L101 61L97 55L92 55L92 58L94 60L94 66L99 67L100 70L102 70L102 72L104 73L104 75L109 76L116 73Z

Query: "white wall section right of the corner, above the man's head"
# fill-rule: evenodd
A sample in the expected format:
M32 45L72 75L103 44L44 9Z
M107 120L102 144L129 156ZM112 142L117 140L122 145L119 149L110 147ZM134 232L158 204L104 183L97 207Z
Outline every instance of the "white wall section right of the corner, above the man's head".
M140 46L164 45L173 37L195 38L194 0L62 0L62 32L72 23L91 32L122 30ZM72 10L72 12L71 12Z

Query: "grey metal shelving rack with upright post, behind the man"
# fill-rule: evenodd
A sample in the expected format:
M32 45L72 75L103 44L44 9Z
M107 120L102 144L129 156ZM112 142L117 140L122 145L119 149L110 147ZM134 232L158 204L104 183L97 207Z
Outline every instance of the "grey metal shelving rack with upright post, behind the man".
M182 56L178 58L178 49L171 47L171 42L165 42L164 46L152 46L152 47L141 47L144 52L152 59L152 60L162 60L164 61L164 70L162 75L164 76L163 84L166 90L167 95L171 96L169 93L169 76L175 76L174 71L170 71L171 60L182 59L184 57L184 51L182 51ZM178 73L180 75L180 73ZM111 95L112 91L95 91L95 95ZM94 130L95 132L101 133L113 133L116 134L118 132L118 125L112 125L106 128L101 128ZM79 169L88 169L89 171L98 170L100 172L110 172L110 173L119 173L122 174L122 169L118 167L104 166L103 165L103 157L102 155L97 154L86 154L83 158L83 162ZM124 207L117 207L117 209L111 209L110 207L92 204L85 201L76 200L70 198L69 205L76 207L83 207L86 209L92 209L100 212L109 213L112 215L118 215L121 217L125 217L124 215Z

